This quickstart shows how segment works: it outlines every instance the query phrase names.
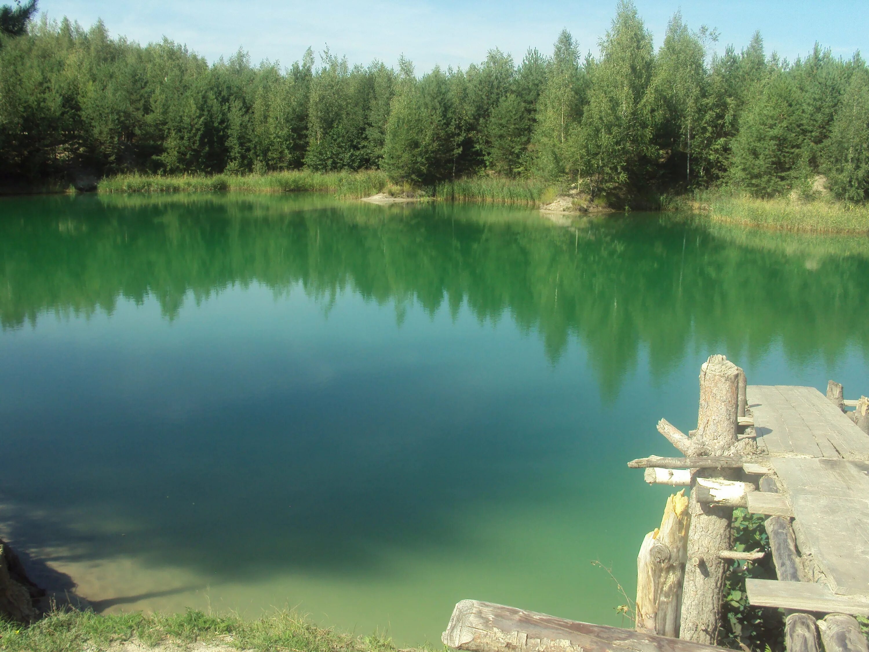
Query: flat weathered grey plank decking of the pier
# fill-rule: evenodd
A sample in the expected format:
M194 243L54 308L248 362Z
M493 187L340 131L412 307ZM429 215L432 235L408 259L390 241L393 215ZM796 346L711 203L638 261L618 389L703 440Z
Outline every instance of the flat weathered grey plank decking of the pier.
M749 385L746 399L780 492L749 509L789 507L803 562L803 582L748 580L749 601L869 615L869 436L811 387Z

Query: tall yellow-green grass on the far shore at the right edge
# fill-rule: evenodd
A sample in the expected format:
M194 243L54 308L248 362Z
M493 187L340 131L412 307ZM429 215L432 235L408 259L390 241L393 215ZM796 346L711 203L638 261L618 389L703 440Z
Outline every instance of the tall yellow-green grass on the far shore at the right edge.
M706 190L670 200L666 208L693 210L705 214L713 222L762 229L869 233L869 205L848 204L829 197L759 199L731 190Z

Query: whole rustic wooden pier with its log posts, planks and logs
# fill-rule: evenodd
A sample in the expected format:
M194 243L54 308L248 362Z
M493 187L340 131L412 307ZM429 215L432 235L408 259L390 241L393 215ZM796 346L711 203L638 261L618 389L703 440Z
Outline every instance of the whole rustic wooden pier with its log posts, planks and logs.
M850 410L853 408L853 410ZM785 609L788 652L869 652L855 615L869 615L869 399L830 381L748 385L725 356L700 370L698 426L658 431L683 457L629 462L652 484L690 487L667 501L637 558L635 630L465 600L443 642L470 652L701 652L715 648L724 579L735 561L734 508L767 516L778 580L746 579L748 601ZM747 648L746 648L747 649Z

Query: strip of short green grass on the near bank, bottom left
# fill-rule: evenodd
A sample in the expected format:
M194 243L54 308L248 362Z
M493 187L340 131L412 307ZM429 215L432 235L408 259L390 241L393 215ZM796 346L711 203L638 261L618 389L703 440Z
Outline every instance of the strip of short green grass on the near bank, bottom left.
M385 636L342 634L317 627L289 611L255 621L194 610L175 615L56 611L30 626L0 622L0 649L4 652L96 652L131 640L147 647L174 643L182 649L193 642L213 642L262 652L397 652Z

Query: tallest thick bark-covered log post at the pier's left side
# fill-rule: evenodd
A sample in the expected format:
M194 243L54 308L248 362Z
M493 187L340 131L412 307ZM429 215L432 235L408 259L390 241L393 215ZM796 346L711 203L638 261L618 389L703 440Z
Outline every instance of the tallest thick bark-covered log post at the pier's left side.
M740 368L725 356L711 356L700 369L696 438L710 455L728 455L736 446L739 385ZM721 623L726 562L719 553L733 548L733 508L700 502L694 490L698 478L711 474L712 471L699 470L693 477L687 548L687 557L692 562L685 569L680 622L680 638L708 645L714 645ZM733 477L733 471L720 469L716 473L725 478L727 474Z

